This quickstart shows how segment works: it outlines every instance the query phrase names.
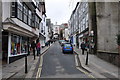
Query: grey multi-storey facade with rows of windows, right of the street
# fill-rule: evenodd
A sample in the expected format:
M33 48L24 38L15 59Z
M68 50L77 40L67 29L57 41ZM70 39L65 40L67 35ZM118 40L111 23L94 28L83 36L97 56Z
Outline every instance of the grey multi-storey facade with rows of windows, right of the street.
M78 2L71 15L70 21L70 34L71 41L77 47L80 48L82 41L88 43L88 3Z

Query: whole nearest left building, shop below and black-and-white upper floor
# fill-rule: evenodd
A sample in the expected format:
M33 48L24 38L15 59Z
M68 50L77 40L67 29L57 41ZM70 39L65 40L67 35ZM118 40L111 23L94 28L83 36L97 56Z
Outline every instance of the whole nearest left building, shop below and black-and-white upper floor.
M2 59L11 63L30 53L30 43L39 38L42 15L39 2L2 2Z

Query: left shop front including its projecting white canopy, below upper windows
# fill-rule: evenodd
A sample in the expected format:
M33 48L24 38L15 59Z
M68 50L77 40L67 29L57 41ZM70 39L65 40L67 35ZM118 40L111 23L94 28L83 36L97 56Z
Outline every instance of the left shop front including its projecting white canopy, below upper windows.
M22 25L22 26L21 26ZM37 39L39 30L22 23L16 18L3 22L2 60L11 63L30 53L30 41Z

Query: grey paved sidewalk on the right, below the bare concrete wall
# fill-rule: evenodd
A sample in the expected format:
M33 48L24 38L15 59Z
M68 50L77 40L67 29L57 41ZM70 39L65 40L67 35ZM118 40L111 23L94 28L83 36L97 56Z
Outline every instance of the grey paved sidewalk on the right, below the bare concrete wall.
M82 55L81 49L74 48L74 51L78 54L81 66L90 71L95 78L120 78L120 68L117 66L92 54L88 55L88 65L85 65L87 52Z

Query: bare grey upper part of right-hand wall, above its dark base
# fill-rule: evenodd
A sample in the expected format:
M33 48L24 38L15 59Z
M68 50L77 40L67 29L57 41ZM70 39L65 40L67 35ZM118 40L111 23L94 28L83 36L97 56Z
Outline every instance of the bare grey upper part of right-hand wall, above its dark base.
M98 50L117 53L118 3L96 3Z

